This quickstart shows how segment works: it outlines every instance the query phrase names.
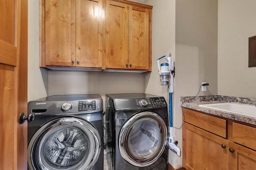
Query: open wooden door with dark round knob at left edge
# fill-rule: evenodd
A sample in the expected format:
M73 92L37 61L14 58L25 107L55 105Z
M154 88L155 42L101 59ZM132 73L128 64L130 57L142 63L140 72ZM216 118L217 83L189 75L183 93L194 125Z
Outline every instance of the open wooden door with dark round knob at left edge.
M0 0L0 169L27 169L27 0Z

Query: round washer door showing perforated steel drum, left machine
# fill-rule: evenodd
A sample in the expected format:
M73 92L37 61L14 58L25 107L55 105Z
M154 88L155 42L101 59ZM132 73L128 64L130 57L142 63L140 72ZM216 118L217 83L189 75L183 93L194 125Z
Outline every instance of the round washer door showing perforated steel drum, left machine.
M28 168L87 170L98 160L100 134L77 117L54 119L36 131L28 143Z

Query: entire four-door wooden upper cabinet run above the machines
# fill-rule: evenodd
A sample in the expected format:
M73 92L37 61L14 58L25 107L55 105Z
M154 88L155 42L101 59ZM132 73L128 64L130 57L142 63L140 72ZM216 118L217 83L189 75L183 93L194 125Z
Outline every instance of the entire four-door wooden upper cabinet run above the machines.
M42 0L40 66L151 71L152 6Z

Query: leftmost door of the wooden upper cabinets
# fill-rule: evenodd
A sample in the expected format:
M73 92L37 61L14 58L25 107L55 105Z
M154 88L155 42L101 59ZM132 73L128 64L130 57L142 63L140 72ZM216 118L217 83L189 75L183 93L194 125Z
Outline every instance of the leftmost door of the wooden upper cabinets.
M45 64L75 66L76 1L45 0L44 9Z

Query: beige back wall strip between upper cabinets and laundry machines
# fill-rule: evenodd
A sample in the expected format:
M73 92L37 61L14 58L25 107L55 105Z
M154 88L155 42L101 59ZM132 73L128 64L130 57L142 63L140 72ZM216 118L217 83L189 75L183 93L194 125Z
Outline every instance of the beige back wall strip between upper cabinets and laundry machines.
M49 95L143 93L143 73L49 70ZM105 104L105 102L103 102ZM105 105L104 105L105 106Z

